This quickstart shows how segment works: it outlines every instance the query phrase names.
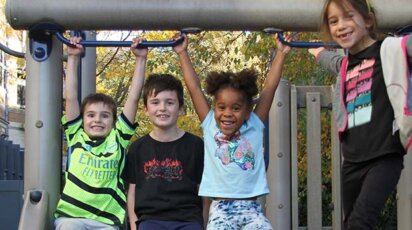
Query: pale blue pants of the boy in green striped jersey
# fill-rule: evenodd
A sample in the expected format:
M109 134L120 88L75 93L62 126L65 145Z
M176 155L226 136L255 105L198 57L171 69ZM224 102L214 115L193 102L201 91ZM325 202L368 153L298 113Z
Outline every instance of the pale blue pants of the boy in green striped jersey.
M54 221L56 230L119 230L119 227L96 220L60 217Z

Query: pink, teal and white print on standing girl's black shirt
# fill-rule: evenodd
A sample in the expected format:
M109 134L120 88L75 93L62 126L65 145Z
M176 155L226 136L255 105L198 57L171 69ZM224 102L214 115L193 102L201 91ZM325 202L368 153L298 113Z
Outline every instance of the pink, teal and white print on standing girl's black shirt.
M370 122L372 117L372 74L375 59L365 59L346 74L348 128Z

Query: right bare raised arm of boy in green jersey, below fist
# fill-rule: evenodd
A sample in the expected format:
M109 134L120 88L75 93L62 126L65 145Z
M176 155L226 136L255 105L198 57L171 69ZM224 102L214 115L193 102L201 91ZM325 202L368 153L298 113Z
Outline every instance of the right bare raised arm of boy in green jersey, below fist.
M123 114L133 123L135 120L137 105L139 103L140 93L144 84L146 58L137 57L136 65L133 72L132 82L129 86L129 94L124 104Z

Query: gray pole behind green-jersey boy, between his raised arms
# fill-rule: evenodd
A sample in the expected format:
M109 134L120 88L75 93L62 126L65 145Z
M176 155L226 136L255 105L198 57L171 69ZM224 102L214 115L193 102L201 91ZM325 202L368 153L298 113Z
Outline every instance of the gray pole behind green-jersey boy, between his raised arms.
M86 40L96 40L96 32L85 31ZM96 47L87 47L82 58L81 99L96 92Z

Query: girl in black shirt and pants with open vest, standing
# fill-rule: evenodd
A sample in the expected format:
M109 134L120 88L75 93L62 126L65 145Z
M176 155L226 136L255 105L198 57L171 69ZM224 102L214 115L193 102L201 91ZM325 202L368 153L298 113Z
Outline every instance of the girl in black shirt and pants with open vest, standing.
M405 154L384 81L387 58L380 55L382 41L374 32L375 13L368 0L327 0L321 24L349 52L342 66L339 54L310 49L322 66L341 70L334 106L344 158L344 229L374 229L396 188ZM412 37L407 39L410 66Z

